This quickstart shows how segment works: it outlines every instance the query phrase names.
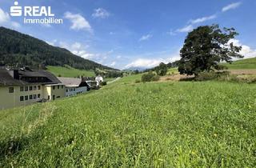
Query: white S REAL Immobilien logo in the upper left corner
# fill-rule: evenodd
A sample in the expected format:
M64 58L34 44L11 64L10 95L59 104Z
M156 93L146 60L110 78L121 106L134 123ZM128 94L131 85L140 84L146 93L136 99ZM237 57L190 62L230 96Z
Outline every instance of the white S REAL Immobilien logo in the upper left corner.
M10 7L10 15L14 17L24 17L24 24L62 24L62 18L54 18L50 6L14 6ZM40 18L38 18L40 17ZM43 18L42 18L43 17Z

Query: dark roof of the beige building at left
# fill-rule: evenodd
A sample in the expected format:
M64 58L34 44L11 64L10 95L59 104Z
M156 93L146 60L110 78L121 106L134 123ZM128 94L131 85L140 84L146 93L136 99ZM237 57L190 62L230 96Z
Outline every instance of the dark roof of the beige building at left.
M47 78L47 82L26 82L20 79L14 79L9 70L0 69L0 86L22 86L22 85L29 85L29 84L55 84L61 83L58 78L47 72L45 70L18 70L19 78L22 77L44 77Z

